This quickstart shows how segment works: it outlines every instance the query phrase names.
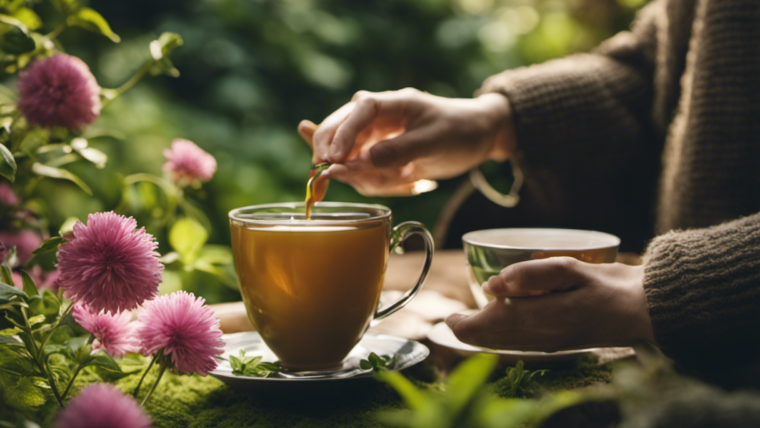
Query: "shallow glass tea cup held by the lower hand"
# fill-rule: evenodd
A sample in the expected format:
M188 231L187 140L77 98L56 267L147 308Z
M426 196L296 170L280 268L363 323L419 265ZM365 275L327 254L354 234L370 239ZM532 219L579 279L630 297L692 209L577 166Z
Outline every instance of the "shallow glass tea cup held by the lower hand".
M493 300L482 285L505 267L547 257L573 257L586 263L612 263L620 238L609 233L573 229L487 229L462 237L470 290L480 309Z

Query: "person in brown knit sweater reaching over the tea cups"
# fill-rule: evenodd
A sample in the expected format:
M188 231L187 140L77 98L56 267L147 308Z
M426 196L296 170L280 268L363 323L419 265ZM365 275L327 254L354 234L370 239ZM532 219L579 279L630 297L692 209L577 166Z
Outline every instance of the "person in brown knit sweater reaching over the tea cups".
M725 373L727 353L737 373L760 362L757 0L655 0L593 52L505 71L475 98L360 91L314 126L299 132L333 163L324 177L364 195L512 158L526 192L561 198L661 162L642 266L515 264L484 285L508 299L446 322L491 348L650 342L705 377Z

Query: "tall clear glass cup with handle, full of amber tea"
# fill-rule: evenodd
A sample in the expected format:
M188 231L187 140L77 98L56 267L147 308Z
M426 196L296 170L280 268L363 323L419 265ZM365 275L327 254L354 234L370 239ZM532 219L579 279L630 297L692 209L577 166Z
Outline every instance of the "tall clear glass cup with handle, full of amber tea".
M305 219L303 203L230 212L232 250L248 317L290 370L333 370L370 321L406 305L421 289L433 241L420 223L391 228L380 205L321 202ZM422 235L427 258L417 284L378 309L391 249Z

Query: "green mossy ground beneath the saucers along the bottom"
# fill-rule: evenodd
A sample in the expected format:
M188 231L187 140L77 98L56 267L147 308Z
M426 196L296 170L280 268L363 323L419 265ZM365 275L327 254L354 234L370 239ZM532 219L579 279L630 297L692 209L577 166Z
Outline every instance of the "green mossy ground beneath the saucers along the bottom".
M503 372L502 372L503 373ZM157 375L154 368L147 376L143 396ZM430 366L407 373L422 388L437 389ZM577 365L554 369L531 385L535 393L574 389L609 382L609 364L598 365L585 360ZM125 392L131 392L138 375L117 382ZM491 383L491 392L504 396L505 378ZM389 387L373 383L336 395L336 391L309 392L293 390L284 394L253 393L227 387L213 377L177 376L166 373L146 406L155 428L193 427L381 427L377 413L404 408L404 404Z

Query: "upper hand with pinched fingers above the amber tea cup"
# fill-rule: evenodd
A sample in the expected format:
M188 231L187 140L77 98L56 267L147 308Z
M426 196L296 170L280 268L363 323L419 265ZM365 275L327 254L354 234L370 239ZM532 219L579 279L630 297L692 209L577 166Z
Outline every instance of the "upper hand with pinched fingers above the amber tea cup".
M315 125L303 121L306 138ZM443 98L403 89L357 92L313 134L314 159L332 165L323 177L365 196L413 194L420 179L454 177L487 159L504 160L515 145L509 103L501 94ZM307 140L308 142L308 140Z

